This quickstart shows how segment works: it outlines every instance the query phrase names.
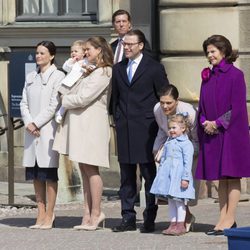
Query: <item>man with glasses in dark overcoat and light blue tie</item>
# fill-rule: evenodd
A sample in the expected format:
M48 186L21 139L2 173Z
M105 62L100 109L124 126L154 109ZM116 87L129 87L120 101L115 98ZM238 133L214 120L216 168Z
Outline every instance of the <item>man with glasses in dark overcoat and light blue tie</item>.
M146 208L142 233L153 232L157 205L150 188L156 175L153 144L158 131L153 108L157 92L168 79L163 65L143 53L145 36L140 30L129 31L123 40L126 59L113 66L113 116L117 131L118 161L121 173L120 225L114 232L136 230L136 167L145 179Z

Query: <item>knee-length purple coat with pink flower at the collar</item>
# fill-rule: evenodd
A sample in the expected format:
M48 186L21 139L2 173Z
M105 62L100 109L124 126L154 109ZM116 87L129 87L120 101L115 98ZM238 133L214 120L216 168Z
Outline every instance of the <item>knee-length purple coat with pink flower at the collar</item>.
M208 135L201 123L216 121L219 133ZM224 60L202 81L198 109L200 152L196 178L220 180L250 176L250 137L246 84L242 71Z

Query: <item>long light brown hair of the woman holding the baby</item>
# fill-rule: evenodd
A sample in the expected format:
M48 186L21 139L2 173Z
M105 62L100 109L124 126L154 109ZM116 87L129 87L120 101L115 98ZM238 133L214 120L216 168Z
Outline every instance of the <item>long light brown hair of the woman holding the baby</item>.
M106 67L113 65L113 52L110 44L102 36L93 36L90 37L86 43L90 43L94 48L101 48L99 54L97 66Z

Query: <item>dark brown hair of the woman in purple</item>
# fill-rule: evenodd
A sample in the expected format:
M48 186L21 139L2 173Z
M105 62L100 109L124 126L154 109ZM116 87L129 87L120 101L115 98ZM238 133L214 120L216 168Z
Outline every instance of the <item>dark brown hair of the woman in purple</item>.
M235 62L238 57L237 52L233 51L230 41L222 35L210 36L203 42L202 47L206 56L208 45L213 45L221 51L225 55L226 61L229 63Z

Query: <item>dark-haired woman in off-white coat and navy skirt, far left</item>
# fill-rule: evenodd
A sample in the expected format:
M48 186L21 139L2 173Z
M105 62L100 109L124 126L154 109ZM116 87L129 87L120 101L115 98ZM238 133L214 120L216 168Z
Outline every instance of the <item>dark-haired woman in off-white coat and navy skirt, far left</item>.
M57 91L64 78L64 73L53 64L55 54L53 42L37 44L37 70L27 75L20 103L25 124L23 166L26 180L33 180L38 207L32 229L50 229L55 218L59 157L52 150L56 131L53 117L58 106Z

